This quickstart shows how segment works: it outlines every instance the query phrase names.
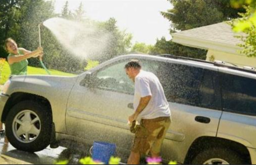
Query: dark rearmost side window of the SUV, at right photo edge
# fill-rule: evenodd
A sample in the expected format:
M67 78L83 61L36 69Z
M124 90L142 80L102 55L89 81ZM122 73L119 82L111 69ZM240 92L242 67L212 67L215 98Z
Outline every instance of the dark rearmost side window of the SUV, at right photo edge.
M256 80L222 74L222 102L225 111L256 115Z

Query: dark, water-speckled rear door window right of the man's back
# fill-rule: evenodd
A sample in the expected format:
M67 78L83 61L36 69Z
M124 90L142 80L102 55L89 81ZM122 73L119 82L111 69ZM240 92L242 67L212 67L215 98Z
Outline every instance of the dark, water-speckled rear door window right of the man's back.
M142 66L159 78L168 101L221 109L217 72L159 61L142 62Z

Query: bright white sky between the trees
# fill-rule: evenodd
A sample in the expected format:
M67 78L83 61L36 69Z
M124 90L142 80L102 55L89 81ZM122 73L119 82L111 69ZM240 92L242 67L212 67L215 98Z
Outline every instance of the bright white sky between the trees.
M171 39L170 22L160 14L173 7L167 0L68 0L69 10L75 11L81 1L86 16L93 20L114 17L120 30L133 35L132 43L155 44L162 36ZM65 2L55 0L56 13L61 13Z

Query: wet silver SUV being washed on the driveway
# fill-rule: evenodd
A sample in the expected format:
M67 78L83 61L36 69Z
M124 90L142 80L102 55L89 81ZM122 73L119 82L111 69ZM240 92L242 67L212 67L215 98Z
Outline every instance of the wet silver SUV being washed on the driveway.
M256 164L256 72L169 55L118 56L74 77L11 77L0 95L10 143L35 152L64 139L105 141L126 160L134 85L124 65L134 58L158 76L172 111L163 159Z

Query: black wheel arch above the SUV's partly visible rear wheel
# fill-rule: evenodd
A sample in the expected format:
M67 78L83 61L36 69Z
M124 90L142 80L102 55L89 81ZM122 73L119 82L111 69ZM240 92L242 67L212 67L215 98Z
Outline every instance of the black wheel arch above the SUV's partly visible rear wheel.
M185 157L185 164L190 164L193 158L202 151L201 149L209 149L211 147L226 147L240 153L251 164L250 152L247 147L236 141L223 139L219 137L199 137L189 147Z

